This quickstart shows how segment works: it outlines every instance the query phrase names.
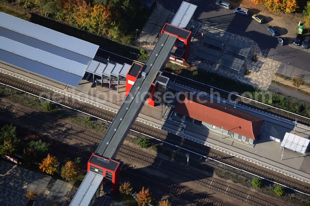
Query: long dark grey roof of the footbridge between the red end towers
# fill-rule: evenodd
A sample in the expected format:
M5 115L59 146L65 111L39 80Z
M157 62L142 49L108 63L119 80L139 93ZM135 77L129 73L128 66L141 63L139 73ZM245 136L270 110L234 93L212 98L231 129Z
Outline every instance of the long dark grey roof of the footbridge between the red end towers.
M107 159L115 157L120 145L124 141L127 132L139 114L140 108L147 98L147 92L158 71L164 67L170 56L171 49L174 47L176 36L163 33L152 50L148 60L145 62L142 71L147 75L138 76L135 84L132 86L130 93L118 110L108 131L105 133L103 140L98 146L95 154L99 154ZM144 95L144 96L142 96ZM143 100L143 101L141 101Z

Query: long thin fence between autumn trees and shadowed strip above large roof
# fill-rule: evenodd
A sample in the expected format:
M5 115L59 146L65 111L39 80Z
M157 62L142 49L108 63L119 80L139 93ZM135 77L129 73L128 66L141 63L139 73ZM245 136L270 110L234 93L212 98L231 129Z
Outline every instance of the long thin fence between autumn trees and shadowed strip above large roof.
M71 24L68 24L68 23L65 22L65 21L60 21L60 20L57 20L57 19L53 19L53 18L51 18L51 17L49 17L49 16L41 15L41 13L37 13L37 12L30 11L30 10L28 10L28 9L25 9L23 6L20 6L20 5L18 5L18 4L13 3L13 2L12 2L12 3L9 3L9 2L7 2L7 1L0 0L0 3L6 5L6 6L10 7L10 8L12 8L12 9L15 9L16 11L24 12L24 13L26 13L26 14L27 14L27 13L28 13L28 14L36 14L36 15L42 16L42 17L44 17L44 18L53 20L53 21L55 21L55 22L58 22L58 23L61 23L61 24L65 24L65 25L68 25L68 26L73 27L73 28L77 28L77 29L79 29L79 30L81 30L81 31L84 31L84 32L87 32L87 33L89 33L89 34L96 35L95 33L92 33L92 32L89 32L89 31L87 31L87 30L84 30L84 29L75 27L75 26L73 26L73 25L71 25ZM98 36L98 35L96 35L96 36ZM108 36L100 36L100 37L104 37L104 38L106 38L106 39L111 40L111 38L109 38ZM111 41L113 41L113 40L111 40ZM120 45L124 45L124 44L121 44L120 42L117 42L117 41L114 41L114 42L115 42L115 43L118 43L118 44L120 44ZM143 47L136 46L136 45L124 45L124 46L129 46L129 47L131 47L131 48L139 49L139 50L144 49L148 54L150 54L150 52L151 52L150 49L145 49L145 48L143 48Z

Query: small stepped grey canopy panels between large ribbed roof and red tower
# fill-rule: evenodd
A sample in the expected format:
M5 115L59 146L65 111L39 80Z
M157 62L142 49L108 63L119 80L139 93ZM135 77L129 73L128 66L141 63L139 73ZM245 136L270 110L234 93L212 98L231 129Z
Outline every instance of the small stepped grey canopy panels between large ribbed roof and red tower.
M126 77L131 65L129 64L119 64L119 63L108 63L105 64L103 62L98 62L96 60L92 60L89 67L87 67L86 71L93 73L95 75L101 76L123 76Z

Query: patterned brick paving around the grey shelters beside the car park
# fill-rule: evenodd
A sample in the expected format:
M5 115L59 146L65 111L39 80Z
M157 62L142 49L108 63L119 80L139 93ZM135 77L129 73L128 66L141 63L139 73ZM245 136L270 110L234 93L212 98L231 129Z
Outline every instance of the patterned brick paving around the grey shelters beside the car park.
M223 52L226 54L232 54L224 49L221 50L221 54L217 58L217 60L212 64L212 62L207 62L206 60L201 60L201 58L197 58L196 52L199 47L203 46L202 38L198 36L199 32L203 32L204 35L214 35L214 36L223 36L228 39L227 43L229 41L237 41L240 42L241 45L246 45L247 47L250 46L252 49L250 50L247 58L245 59L243 57L243 60L245 62L243 63L243 66L241 67L240 71L232 70L230 68L224 67L219 65L219 60L221 56L223 55ZM198 69L202 69L208 72L214 72L218 75L228 77L230 79L234 79L236 81L239 81L241 83L250 84L255 87L259 87L261 89L268 88L268 86L271 84L271 80L274 76L274 73L277 72L278 68L281 67L281 62L272 61L270 58L262 58L259 52L259 48L257 49L258 54L258 61L253 62L251 61L251 58L254 56L254 49L256 43L250 38L231 34L228 32L223 32L217 28L208 27L206 25L202 26L199 31L197 32L197 35L192 41L191 44L191 54L188 58L189 62L192 62L192 65L194 67L198 67ZM233 56L238 57L237 55L232 54ZM242 58L241 58L242 59ZM250 74L245 75L245 71L247 67L250 70Z

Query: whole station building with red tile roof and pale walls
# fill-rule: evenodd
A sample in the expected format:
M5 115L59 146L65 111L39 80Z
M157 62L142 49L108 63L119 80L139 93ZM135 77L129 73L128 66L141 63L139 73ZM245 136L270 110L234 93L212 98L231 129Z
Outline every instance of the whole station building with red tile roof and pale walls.
M264 119L214 103L201 97L188 98L182 93L174 108L173 118L222 133L253 144ZM186 124L186 123L185 123Z

